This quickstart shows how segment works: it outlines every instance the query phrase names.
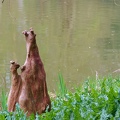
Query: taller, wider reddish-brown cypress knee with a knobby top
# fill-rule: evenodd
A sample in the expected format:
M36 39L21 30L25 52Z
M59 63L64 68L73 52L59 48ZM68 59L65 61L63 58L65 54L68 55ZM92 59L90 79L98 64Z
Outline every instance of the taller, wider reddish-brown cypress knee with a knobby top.
M22 88L19 96L20 107L27 112L41 114L46 108L51 109L51 101L47 91L46 73L39 56L36 34L32 29L24 31L27 57L21 67Z

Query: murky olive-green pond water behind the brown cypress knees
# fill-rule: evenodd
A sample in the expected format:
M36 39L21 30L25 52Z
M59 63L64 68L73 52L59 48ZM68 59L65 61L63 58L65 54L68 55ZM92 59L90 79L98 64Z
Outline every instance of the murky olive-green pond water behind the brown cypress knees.
M24 64L21 33L30 27L37 34L49 91L57 89L59 72L72 89L96 73L106 76L120 68L119 0L0 2L0 88L10 88L9 61Z

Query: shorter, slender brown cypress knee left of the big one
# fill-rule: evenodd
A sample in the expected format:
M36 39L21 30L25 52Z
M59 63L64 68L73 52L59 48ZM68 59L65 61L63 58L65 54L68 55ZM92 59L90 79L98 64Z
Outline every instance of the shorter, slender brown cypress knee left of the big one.
M20 67L20 65L14 61L10 61L10 71L12 73L12 81L11 81L11 88L8 96L8 111L12 112L15 110L15 105L18 102L20 91L21 91L21 85L22 80L21 76L17 73L17 69Z

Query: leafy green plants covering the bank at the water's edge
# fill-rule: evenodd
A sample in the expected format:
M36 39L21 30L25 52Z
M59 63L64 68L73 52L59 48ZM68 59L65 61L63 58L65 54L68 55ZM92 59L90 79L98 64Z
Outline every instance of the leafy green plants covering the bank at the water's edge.
M59 75L60 94L52 100L50 112L31 115L29 118L16 105L13 113L2 110L1 120L119 120L120 78L87 80L74 93L66 89L62 75ZM91 83L94 81L94 83Z

